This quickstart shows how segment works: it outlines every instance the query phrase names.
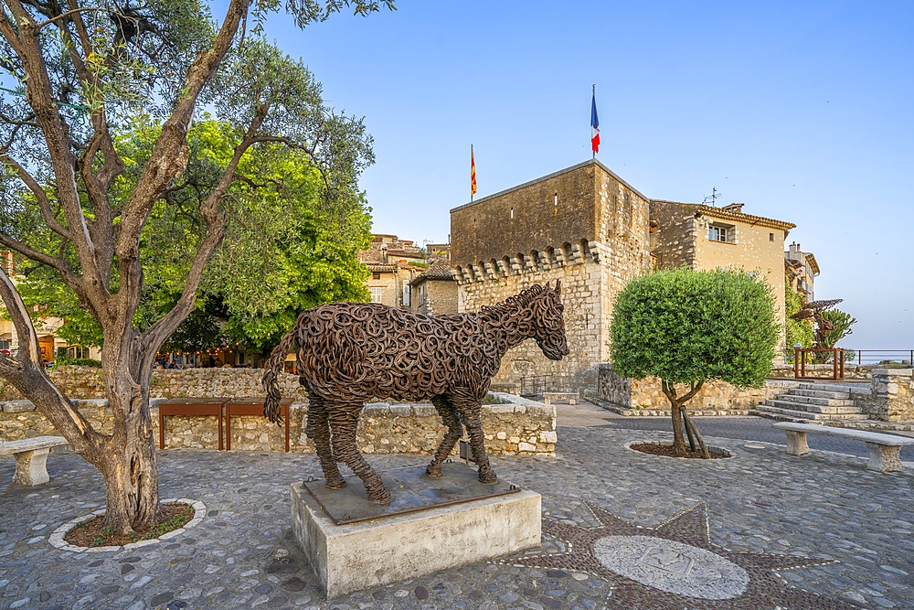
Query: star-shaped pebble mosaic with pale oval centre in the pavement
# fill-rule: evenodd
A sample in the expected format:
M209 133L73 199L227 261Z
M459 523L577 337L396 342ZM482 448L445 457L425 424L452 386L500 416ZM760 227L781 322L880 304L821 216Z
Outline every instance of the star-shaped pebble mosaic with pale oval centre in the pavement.
M564 542L565 552L499 563L597 575L611 584L605 607L613 610L856 608L792 587L775 572L832 562L729 551L713 544L705 504L687 508L657 528L634 525L586 504L599 526L543 519L543 533Z

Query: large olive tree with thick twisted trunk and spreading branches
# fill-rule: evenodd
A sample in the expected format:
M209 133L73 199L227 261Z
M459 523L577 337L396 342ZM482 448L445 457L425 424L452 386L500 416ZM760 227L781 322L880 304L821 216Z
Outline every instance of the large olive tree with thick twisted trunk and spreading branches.
M8 90L0 91L0 247L59 273L98 321L112 433L93 428L48 379L27 307L3 270L0 298L19 348L13 357L0 354L0 375L101 471L112 531L157 517L149 413L155 354L194 309L204 268L236 209L242 159L262 144L302 151L321 172L328 205L351 192L372 159L361 121L326 107L303 63L260 37L266 16L285 8L304 27L345 7L364 16L381 5L393 8L393 0L288 0L284 7L228 0L216 20L198 0L0 0L0 81ZM184 186L187 137L201 106L228 122L237 142L227 162L210 167L213 186L199 193L200 237L180 296L141 330L134 316L143 293L143 228L157 202L167 204ZM116 142L143 114L160 131L126 177ZM34 210L38 227L23 228L23 206ZM28 230L44 230L45 245L29 245Z

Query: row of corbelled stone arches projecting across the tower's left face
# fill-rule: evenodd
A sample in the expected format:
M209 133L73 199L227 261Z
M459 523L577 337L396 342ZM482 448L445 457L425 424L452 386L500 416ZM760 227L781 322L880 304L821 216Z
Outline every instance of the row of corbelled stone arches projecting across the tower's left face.
M587 262L600 264L606 259L607 251L608 248L599 241L566 241L558 247L547 246L543 250L505 254L500 259L492 258L475 264L459 265L455 268L454 274L457 284L460 285L497 282L508 277L561 269Z

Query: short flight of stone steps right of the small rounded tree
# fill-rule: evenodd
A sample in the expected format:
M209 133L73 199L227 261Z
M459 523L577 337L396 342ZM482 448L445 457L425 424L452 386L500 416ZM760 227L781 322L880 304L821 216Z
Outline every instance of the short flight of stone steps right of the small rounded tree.
M801 383L762 402L753 412L784 422L859 422L866 414L854 406L847 386L837 383Z

